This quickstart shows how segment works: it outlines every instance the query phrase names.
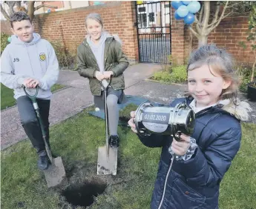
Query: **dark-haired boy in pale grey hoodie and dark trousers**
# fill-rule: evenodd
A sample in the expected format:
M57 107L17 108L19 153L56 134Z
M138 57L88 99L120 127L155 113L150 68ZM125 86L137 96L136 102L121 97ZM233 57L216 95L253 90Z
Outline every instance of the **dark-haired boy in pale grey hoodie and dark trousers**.
M26 13L14 13L10 24L14 35L1 55L1 83L14 90L22 126L39 155L37 165L40 170L45 170L49 161L42 132L32 102L25 95L22 85L28 88L39 85L36 100L49 143L50 87L58 79L59 64L52 45L33 33L33 24Z

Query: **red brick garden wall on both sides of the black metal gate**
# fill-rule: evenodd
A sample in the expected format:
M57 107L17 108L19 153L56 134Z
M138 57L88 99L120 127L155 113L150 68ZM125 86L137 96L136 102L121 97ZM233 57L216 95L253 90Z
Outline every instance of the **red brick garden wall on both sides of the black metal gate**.
M104 1L102 1L104 2ZM105 4L63 10L55 13L39 14L33 20L36 32L50 41L59 40L65 47L75 53L76 47L85 37L85 16L89 13L100 13L105 23L105 30L119 35L123 50L132 62L139 60L135 1L106 1ZM173 11L173 10L172 10ZM178 64L186 62L191 47L191 36L183 21L176 21L171 16L171 55ZM246 42L248 17L226 18L210 34L209 42L219 47L226 47L237 62L252 64L251 51L242 50L238 42ZM9 25L1 21L1 32L10 33ZM197 47L193 37L192 48Z

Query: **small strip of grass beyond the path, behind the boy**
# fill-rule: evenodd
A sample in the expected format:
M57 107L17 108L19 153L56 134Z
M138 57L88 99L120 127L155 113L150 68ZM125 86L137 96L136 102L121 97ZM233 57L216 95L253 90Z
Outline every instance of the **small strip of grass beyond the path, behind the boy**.
M51 87L52 92L63 88L62 84L54 84ZM16 104L16 100L13 98L13 90L5 87L1 84L1 110L6 109L7 107L12 107Z

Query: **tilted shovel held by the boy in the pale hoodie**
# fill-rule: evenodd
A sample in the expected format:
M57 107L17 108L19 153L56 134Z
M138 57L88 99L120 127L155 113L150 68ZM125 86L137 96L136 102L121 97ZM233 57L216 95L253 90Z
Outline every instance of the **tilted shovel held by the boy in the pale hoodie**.
M42 118L39 113L39 106L37 105L37 102L36 102L36 96L39 91L39 86L38 85L36 86L36 93L33 96L27 92L26 87L23 86L23 89L24 89L24 93L26 93L26 95L33 102L33 107L36 111L36 117L38 118L39 126L42 130L42 138L44 139L44 142L45 142L45 150L50 160L50 165L47 168L47 170L43 170L45 173L47 187L53 188L53 187L56 187L57 185L67 185L68 179L66 177L65 168L62 163L62 158L60 156L53 158L52 153L50 151L50 147L46 142L46 133L42 123Z

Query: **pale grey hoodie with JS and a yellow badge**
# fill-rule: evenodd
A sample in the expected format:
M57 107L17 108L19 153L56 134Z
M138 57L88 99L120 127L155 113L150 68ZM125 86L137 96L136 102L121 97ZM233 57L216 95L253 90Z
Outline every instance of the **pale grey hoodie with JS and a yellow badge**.
M1 54L1 83L14 90L14 98L24 96L24 79L39 80L38 98L50 99L50 87L59 76L59 63L52 45L37 33L33 40L22 42L17 36Z

